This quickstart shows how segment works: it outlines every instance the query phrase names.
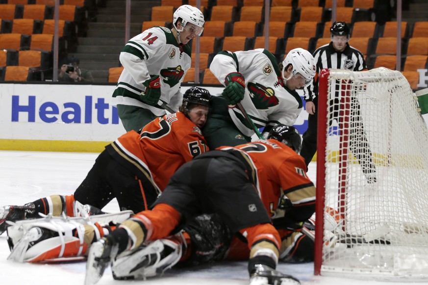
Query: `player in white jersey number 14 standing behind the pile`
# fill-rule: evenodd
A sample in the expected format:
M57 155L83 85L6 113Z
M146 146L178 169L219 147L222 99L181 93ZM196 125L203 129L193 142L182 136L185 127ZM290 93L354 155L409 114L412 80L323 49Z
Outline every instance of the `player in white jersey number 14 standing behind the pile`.
M174 12L172 29L151 27L126 43L120 54L124 71L111 101L126 131L165 115L159 100L178 110L180 85L191 64L187 43L201 35L204 23L198 8L182 5Z

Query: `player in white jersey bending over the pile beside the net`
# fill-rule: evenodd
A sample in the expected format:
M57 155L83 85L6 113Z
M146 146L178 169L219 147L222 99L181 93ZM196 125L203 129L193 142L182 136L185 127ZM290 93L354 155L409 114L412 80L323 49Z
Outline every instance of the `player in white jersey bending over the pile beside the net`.
M293 125L302 111L302 98L296 89L308 85L315 76L313 56L302 48L291 50L278 65L266 49L221 51L210 71L226 86L221 96L213 96L210 121L203 129L210 149L251 141L252 125L264 128L263 137L277 124ZM228 108L227 108L228 107Z

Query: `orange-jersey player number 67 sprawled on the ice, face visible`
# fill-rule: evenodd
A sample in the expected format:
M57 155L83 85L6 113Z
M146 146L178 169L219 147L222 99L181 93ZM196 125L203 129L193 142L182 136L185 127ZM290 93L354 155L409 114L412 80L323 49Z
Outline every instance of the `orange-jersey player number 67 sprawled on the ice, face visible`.
M179 166L207 151L201 127L210 100L208 90L191 87L183 96L179 112L154 119L140 133L129 131L107 145L73 195L53 195L24 206L0 207L0 234L6 229L6 221L38 218L39 213L101 214L99 209L113 198L117 198L121 210L138 213L148 209Z

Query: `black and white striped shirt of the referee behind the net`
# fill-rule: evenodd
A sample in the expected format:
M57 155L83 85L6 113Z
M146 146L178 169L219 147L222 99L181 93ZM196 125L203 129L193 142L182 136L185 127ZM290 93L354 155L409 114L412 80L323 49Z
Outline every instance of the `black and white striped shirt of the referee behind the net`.
M346 44L346 48L342 52L339 52L333 48L333 43L330 42L315 50L313 56L317 66L317 73L312 83L304 89L304 98L306 101L313 101L317 97L318 75L322 69L367 70L363 54L358 49L352 48L348 43Z

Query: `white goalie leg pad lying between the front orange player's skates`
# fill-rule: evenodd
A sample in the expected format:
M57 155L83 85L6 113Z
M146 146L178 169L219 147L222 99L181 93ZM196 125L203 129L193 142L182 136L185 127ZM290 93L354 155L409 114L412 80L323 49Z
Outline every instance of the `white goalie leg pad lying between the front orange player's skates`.
M181 258L182 246L176 240L157 239L146 246L124 252L112 262L114 279L146 279L162 275Z

